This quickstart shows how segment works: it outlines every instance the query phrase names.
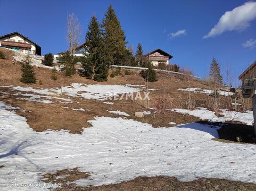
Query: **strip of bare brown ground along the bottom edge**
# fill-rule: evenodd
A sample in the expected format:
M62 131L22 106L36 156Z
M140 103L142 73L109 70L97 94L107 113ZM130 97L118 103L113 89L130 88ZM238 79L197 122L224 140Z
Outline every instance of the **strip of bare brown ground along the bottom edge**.
M217 178L200 178L181 182L175 177L138 177L134 180L102 186L79 187L69 185L55 191L253 191L256 184Z

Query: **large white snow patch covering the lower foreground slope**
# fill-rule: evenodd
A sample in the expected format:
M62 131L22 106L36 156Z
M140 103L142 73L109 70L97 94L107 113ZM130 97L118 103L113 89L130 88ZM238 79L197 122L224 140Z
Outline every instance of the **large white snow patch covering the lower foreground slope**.
M78 185L119 183L138 176L175 176L182 181L215 177L256 183L256 145L223 143L217 129L200 123L152 128L147 123L95 117L82 134L67 130L36 132L0 102L0 190L47 190L7 187L41 182L54 170L80 167L90 172ZM75 112L75 111L74 111ZM7 178L9 178L7 180ZM10 184L8 184L10 185Z

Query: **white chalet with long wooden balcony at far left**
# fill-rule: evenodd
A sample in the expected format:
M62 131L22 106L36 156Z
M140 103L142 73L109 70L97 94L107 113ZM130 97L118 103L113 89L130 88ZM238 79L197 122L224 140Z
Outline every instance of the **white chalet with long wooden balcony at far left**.
M41 46L19 32L12 32L1 36L0 47L13 49L25 54L41 55Z

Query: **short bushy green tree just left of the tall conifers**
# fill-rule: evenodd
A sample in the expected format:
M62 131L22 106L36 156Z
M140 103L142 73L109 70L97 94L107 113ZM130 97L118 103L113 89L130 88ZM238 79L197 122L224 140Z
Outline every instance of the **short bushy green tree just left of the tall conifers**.
M59 61L64 65L63 70L65 76L72 76L75 73L74 65L77 62L77 58L71 54L68 50L65 53L59 53Z

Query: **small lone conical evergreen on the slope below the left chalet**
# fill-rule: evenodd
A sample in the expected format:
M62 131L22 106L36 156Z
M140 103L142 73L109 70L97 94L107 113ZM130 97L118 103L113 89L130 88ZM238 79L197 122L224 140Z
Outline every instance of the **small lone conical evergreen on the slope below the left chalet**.
M31 66L31 58L29 55L26 55L25 59L23 60L23 64L21 66L22 77L20 81L25 84L35 84L36 79L34 76L33 66Z

